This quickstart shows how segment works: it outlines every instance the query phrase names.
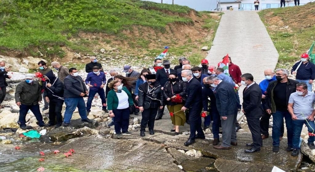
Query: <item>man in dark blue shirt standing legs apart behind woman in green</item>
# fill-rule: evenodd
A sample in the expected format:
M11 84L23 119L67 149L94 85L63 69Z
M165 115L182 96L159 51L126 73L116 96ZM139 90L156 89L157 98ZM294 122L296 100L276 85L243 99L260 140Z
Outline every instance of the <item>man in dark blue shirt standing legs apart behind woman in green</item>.
M95 94L97 93L99 98L102 100L102 110L108 113L107 105L105 100L104 86L106 84L106 77L104 72L99 71L98 66L93 67L93 72L90 72L85 80L85 84L90 87L90 93L87 102L87 115L91 112L91 105Z

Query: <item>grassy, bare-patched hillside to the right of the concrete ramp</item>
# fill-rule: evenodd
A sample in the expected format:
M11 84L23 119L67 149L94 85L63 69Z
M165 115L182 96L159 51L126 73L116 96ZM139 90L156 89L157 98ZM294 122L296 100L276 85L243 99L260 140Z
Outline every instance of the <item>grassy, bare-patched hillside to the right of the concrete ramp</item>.
M279 52L278 67L291 67L315 41L315 2L267 9L259 15Z

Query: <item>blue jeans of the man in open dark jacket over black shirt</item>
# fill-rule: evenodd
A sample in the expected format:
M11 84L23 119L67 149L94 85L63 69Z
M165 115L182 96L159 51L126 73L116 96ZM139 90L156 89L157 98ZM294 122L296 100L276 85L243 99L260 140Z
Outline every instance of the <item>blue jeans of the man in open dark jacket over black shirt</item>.
M281 136L281 126L284 123L286 125L287 132L287 145L292 146L292 138L293 138L293 125L292 118L288 111L276 111L276 113L272 114L273 118L273 126L272 126L272 145L279 146L280 145L280 136Z

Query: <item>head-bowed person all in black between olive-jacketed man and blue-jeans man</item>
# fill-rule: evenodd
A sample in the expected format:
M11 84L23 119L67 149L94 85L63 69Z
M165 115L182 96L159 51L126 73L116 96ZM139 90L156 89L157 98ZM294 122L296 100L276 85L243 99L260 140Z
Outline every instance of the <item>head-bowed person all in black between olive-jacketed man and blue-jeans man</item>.
M61 127L63 124L63 116L61 111L63 110L63 82L56 78L51 73L44 75L46 80L46 86L44 90L45 99L49 104L49 123L48 126L55 125L55 120L57 123L55 128Z

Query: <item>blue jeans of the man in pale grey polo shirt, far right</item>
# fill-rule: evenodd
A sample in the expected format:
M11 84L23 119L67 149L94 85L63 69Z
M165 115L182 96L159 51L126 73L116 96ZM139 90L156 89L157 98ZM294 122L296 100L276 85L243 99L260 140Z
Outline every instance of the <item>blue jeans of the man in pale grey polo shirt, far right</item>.
M307 129L310 133L315 133L315 122L307 120L292 120L293 123L293 148L294 149L300 149L300 137L301 137L301 132L303 128L303 124L307 126ZM307 140L308 143L314 143L315 141L315 136L310 136L309 139Z

